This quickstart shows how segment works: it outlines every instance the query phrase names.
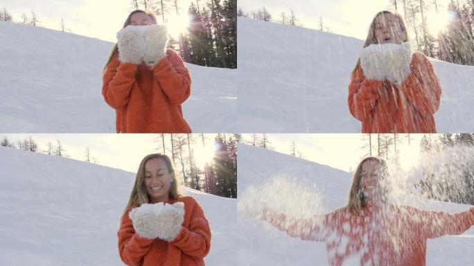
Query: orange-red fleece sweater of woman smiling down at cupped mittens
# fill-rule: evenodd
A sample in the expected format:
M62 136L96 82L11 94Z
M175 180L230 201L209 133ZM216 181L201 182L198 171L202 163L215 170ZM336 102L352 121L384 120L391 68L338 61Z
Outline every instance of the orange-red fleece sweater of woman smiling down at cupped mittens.
M193 197L180 197L184 202L184 222L172 242L159 238L142 238L133 229L128 211L122 216L119 236L119 253L130 266L204 266L204 256L211 249L211 229L201 206ZM168 201L169 204L175 200Z

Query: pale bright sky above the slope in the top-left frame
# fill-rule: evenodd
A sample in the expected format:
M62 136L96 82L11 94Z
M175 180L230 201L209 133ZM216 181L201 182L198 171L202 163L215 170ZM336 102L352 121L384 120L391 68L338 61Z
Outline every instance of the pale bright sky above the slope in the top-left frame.
M6 8L15 21L21 21L25 13L31 17L34 11L45 28L60 30L64 19L72 33L116 42L116 33L132 11L130 0L2 0L0 8ZM179 0L187 14L191 0ZM140 8L142 8L140 6Z

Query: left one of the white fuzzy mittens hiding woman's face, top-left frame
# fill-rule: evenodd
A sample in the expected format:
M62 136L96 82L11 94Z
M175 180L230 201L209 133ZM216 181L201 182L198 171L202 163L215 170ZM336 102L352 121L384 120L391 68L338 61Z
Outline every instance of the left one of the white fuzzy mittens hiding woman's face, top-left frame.
M125 63L140 64L143 60L145 42L143 33L137 27L127 26L117 33L119 60Z

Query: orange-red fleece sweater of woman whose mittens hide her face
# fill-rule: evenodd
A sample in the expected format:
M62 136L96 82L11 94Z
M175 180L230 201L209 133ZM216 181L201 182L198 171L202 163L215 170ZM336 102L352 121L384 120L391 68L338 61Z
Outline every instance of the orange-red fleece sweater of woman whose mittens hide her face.
M171 49L152 69L114 56L103 75L102 94L116 110L117 133L191 133L181 107L191 94L191 76Z

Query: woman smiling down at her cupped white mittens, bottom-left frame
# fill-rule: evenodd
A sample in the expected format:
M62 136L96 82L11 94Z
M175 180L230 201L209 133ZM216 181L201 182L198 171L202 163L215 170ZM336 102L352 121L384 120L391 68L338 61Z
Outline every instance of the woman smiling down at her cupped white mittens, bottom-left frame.
M168 156L149 154L141 161L118 236L126 265L204 265L211 229L198 202L179 194Z

